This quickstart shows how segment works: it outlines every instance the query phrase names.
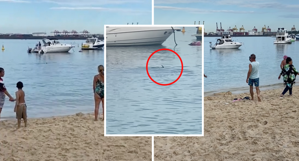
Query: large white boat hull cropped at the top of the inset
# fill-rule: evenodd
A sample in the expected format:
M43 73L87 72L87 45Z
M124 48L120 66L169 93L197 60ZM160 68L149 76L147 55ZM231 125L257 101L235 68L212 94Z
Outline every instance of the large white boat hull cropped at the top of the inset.
M161 45L179 27L106 27L106 46Z

